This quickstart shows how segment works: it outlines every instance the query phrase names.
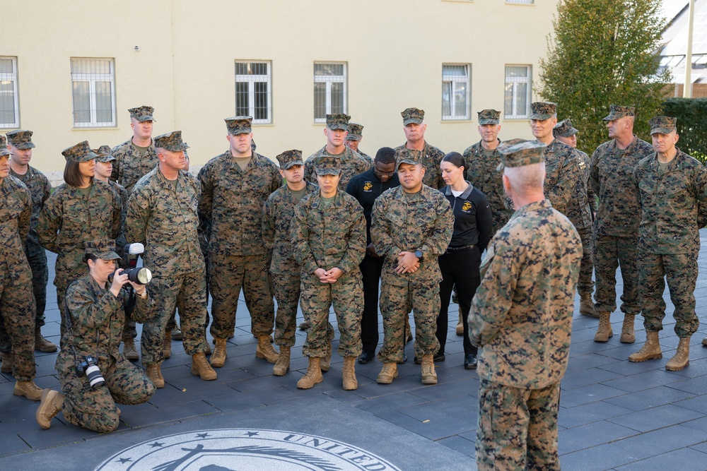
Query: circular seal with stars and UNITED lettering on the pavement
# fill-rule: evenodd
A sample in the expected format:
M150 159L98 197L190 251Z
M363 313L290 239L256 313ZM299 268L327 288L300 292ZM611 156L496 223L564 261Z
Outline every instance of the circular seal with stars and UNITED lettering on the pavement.
M214 429L161 436L126 448L96 470L399 471L378 455L322 436L283 430Z

